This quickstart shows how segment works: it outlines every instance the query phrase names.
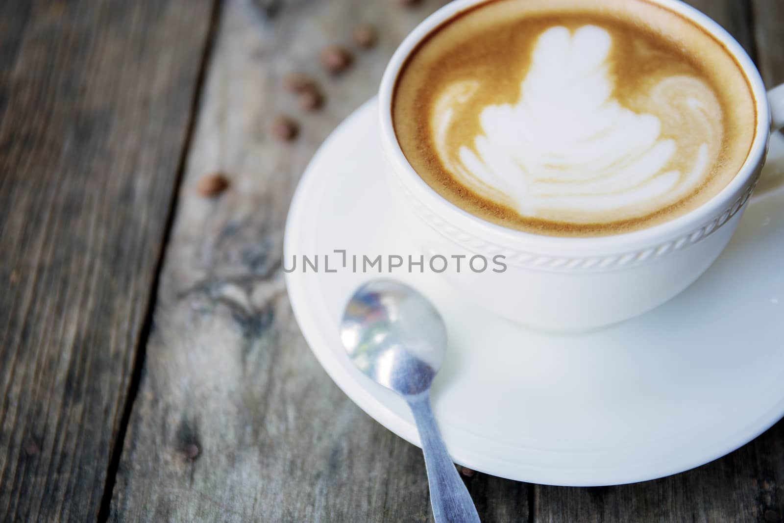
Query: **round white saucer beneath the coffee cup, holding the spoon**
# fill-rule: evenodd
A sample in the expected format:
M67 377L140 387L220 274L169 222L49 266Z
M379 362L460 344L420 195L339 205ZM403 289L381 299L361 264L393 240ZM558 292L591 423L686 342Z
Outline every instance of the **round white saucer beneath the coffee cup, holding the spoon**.
M292 202L292 256L346 249L416 251L395 227L383 180L376 100L354 112L310 162ZM768 176L784 174L775 136ZM731 452L784 416L784 184L761 183L728 249L655 311L579 336L531 332L467 303L434 274L401 274L436 303L450 346L434 383L456 462L551 485L614 485L688 470ZM772 186L772 187L771 187ZM337 256L337 257L336 257ZM314 354L361 409L419 445L405 403L352 367L337 334L362 281L383 274L286 274ZM350 263L349 263L350 267ZM388 276L388 274L387 274Z

